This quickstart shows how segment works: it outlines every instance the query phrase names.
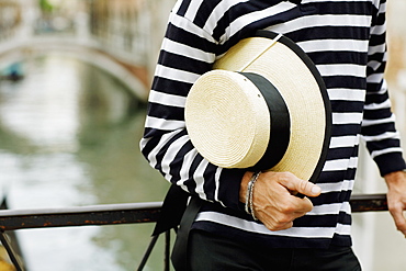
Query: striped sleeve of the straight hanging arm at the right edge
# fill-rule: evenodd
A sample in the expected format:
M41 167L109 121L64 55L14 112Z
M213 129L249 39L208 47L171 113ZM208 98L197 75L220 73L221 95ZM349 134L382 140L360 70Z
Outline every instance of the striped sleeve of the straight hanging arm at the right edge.
M399 133L391 110L387 84L384 79L386 66L386 2L376 7L372 20L366 67L366 97L362 121L362 137L376 162L381 176L406 168L401 148Z

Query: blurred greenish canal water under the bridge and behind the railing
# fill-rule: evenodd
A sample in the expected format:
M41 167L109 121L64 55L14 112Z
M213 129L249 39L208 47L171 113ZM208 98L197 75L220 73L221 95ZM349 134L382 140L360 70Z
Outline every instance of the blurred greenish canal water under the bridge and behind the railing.
M120 80L63 55L0 81L0 192L10 208L161 201L142 157L145 105ZM16 230L30 271L135 270L151 224ZM162 239L162 238L160 238ZM162 240L145 270L162 270Z

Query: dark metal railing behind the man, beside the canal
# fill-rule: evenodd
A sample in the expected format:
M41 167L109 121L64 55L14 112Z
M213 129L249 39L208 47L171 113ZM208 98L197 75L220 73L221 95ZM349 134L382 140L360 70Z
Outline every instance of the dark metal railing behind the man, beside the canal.
M385 194L359 194L350 200L352 212L387 211ZM0 211L0 240L16 271L23 271L21 259L5 235L8 230L86 225L119 225L157 222L161 202L105 204L70 208L4 210ZM165 267L169 271L170 233L165 234ZM158 236L151 241L137 270L143 270Z

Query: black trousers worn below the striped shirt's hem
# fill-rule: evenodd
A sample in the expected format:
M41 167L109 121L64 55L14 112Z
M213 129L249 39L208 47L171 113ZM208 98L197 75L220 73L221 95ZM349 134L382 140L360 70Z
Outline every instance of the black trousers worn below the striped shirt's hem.
M190 271L360 271L350 247L328 249L263 249L238 240L191 230L188 246Z

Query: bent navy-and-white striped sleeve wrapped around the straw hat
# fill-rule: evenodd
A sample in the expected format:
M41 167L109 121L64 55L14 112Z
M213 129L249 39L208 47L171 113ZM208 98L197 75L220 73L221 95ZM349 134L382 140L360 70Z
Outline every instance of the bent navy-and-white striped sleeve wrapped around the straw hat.
M218 46L184 12L190 9L185 10L179 1L170 14L148 99L140 149L151 167L171 183L203 200L238 208L244 170L208 162L191 144L185 127L188 92L201 75L212 69Z

